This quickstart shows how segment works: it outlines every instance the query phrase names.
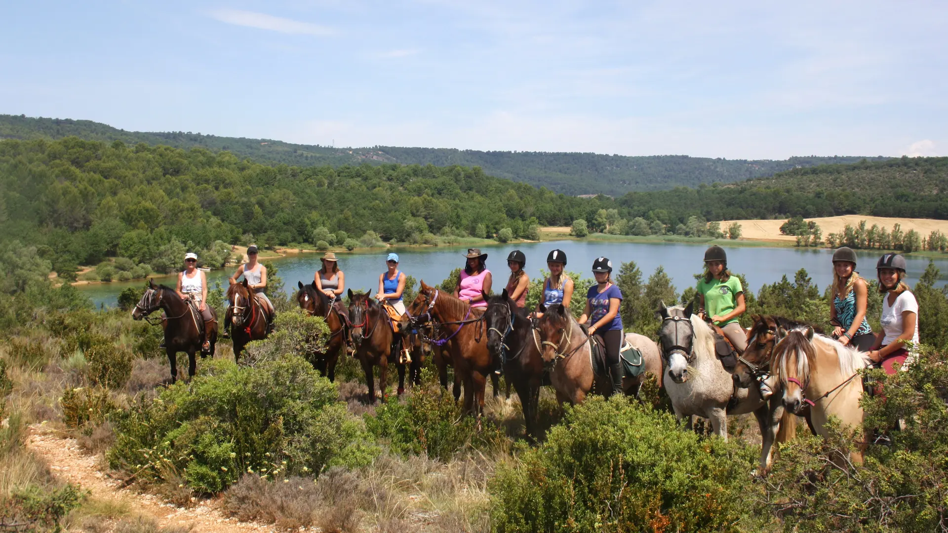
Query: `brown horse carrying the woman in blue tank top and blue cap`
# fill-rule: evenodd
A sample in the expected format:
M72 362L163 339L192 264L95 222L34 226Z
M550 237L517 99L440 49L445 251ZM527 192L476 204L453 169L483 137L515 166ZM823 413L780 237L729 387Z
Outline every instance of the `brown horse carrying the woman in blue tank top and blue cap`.
M349 289L349 323L356 358L365 372L365 382L369 386L369 403L375 403L375 384L373 366L378 366L378 389L385 402L385 389L388 386L389 362L397 358L392 350L397 340L392 331L392 319L382 304L372 298L372 294L356 293ZM411 364L420 368L420 359ZM405 364L396 363L398 370L398 394L405 392Z

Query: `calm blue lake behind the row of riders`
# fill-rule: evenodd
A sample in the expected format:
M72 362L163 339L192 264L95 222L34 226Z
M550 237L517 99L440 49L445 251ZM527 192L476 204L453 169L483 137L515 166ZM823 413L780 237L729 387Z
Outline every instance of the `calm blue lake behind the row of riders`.
M619 265L626 261L635 261L642 270L643 281L655 271L655 268L665 267L665 272L671 278L675 288L681 292L684 287L695 285L694 274L702 271L702 258L705 244L685 243L622 243L597 241L547 241L541 243L520 243L516 245L497 245L482 248L488 254L487 268L494 272L495 291L506 285L507 254L513 249L520 249L527 256L526 271L531 278L539 275L540 268L546 268L546 256L550 250L560 248L569 258L567 269L583 272L586 277L593 277L590 268L593 259L605 255L612 260L615 272ZM751 247L724 247L727 250L728 267L733 272L744 274L751 290L756 294L760 285L772 284L787 275L793 281L793 274L800 268L806 268L813 282L821 289L832 282L831 257L832 250L828 248L801 249L801 248L751 248ZM378 288L378 275L385 271L385 256L390 250L400 256L399 267L405 273L414 276L416 280L425 280L428 285L441 283L447 278L451 269L463 267L463 254L466 247L438 247L438 248L399 248L367 253L339 253L339 267L346 273L346 286L353 290ZM864 276L875 277L875 264L879 259L878 251L857 250L860 260L860 270ZM284 258L273 259L279 268L279 276L283 278L287 292L296 290L297 281L304 284L313 281L313 273L319 269L321 253L303 253L290 255ZM915 285L921 273L928 266L928 258L906 258L908 263L908 282ZM948 280L948 255L944 259L935 261L941 271L939 285ZM208 280L213 286L218 281L227 286L227 279L234 271L214 270L208 272ZM159 281L172 284L173 278L159 278ZM127 286L141 285L141 281L110 284L81 285L82 293L93 300L96 306L113 306L116 304L118 293ZM577 287L577 293L580 288Z

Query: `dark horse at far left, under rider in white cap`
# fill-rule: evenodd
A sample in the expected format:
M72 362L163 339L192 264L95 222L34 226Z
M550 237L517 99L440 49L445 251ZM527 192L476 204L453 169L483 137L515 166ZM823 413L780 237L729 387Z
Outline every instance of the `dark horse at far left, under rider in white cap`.
M155 282L148 280L148 288L145 294L141 295L141 300L132 309L132 318L140 321L146 319L150 313L162 309L165 312L164 330L165 330L165 352L168 354L168 364L172 367L172 383L177 380L177 353L186 352L188 354L188 377L193 377L197 371L197 361L194 354L201 352L201 334L198 329L197 321L201 321L200 313L191 312L191 305L174 291L173 288L165 285L155 285ZM217 313L214 308L210 308L210 313L214 320L204 324L208 331L208 340L210 340L210 355L214 355L214 345L217 343ZM155 325L160 321L151 323ZM205 354L201 352L201 357Z

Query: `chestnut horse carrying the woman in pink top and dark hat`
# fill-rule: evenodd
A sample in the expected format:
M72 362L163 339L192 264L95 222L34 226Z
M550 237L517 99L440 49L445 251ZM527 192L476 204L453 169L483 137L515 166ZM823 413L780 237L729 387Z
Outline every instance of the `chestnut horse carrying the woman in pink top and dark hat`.
M483 325L483 307L471 307L469 303L458 300L453 295L421 282L418 296L409 306L411 326L421 327L432 322L434 333L432 344L435 363L439 362L439 348L447 346L450 360L454 366L454 397L458 398L464 384L465 413L480 415L483 413L483 392L487 376L496 377L493 372L492 358L487 350L485 327ZM442 360L438 372L442 386L447 387L447 361ZM495 384L494 394L497 394ZM476 403L475 403L476 400Z

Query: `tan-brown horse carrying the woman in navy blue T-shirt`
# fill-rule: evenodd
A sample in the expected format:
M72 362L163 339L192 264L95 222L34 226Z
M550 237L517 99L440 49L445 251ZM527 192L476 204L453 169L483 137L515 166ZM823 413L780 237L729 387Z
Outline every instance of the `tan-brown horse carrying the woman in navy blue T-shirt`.
M576 322L570 309L562 304L538 306L543 317L538 322L539 340L543 363L551 369L550 381L560 403L569 401L579 404L593 391L596 381L601 381L600 392L611 391L609 377L597 379L593 370L593 355L590 338ZM651 339L636 333L627 333L626 340L637 348L645 358L646 371L662 382L662 358L658 346ZM626 377L622 388L627 395L638 395L645 373L637 377Z

